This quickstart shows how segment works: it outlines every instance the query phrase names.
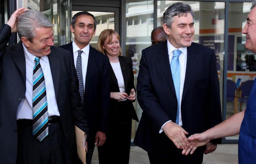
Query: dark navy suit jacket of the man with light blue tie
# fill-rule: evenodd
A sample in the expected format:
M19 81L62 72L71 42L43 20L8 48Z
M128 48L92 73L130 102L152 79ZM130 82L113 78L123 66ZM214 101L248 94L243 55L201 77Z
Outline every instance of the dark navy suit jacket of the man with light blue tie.
M217 125L222 119L214 50L192 43L187 52L181 115L182 127L192 135ZM152 143L165 144L162 141L166 141L164 132L159 134L160 128L168 120L175 122L177 113L167 41L142 51L137 92L143 113L134 144L154 152Z

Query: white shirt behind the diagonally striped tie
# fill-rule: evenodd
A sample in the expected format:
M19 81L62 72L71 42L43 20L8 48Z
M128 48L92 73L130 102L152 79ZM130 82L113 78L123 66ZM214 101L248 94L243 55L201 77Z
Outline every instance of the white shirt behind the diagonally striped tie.
M33 119L33 106L32 106L32 97L33 97L33 67L35 55L28 52L24 44L22 43L25 61L26 61L26 93L22 102L18 106L16 119ZM58 105L56 101L56 96L54 92L54 86L52 81L52 72L50 69L50 64L48 56L44 56L40 59L40 65L44 72L44 81L46 86L46 98L48 104L48 116L60 116L58 110Z

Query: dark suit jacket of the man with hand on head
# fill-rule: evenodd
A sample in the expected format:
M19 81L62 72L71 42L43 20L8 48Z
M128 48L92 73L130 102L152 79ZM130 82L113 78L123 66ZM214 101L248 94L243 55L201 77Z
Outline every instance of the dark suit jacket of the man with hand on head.
M16 164L16 112L26 92L26 63L22 43L6 46L11 28L0 31L0 159L4 164ZM70 53L51 47L48 55L56 101L70 154L70 163L77 159L74 123L87 133L88 127L80 103L78 79Z

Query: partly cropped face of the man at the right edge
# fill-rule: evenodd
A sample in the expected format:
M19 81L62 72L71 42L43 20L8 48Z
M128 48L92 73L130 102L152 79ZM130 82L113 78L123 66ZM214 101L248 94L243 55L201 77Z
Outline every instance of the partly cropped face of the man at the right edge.
M246 43L244 47L250 51L256 53L256 8L254 7L252 11L247 16L247 23L244 26L242 33L246 34Z

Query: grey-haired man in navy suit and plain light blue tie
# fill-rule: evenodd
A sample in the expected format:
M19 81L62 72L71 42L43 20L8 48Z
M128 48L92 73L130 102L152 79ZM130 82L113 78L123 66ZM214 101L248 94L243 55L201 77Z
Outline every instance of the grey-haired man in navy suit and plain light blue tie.
M168 40L142 51L138 102L143 110L134 144L148 152L151 164L199 164L216 149L212 140L183 156L186 135L221 122L220 88L214 50L192 43L194 13L176 3L164 12ZM162 133L164 131L164 133Z

